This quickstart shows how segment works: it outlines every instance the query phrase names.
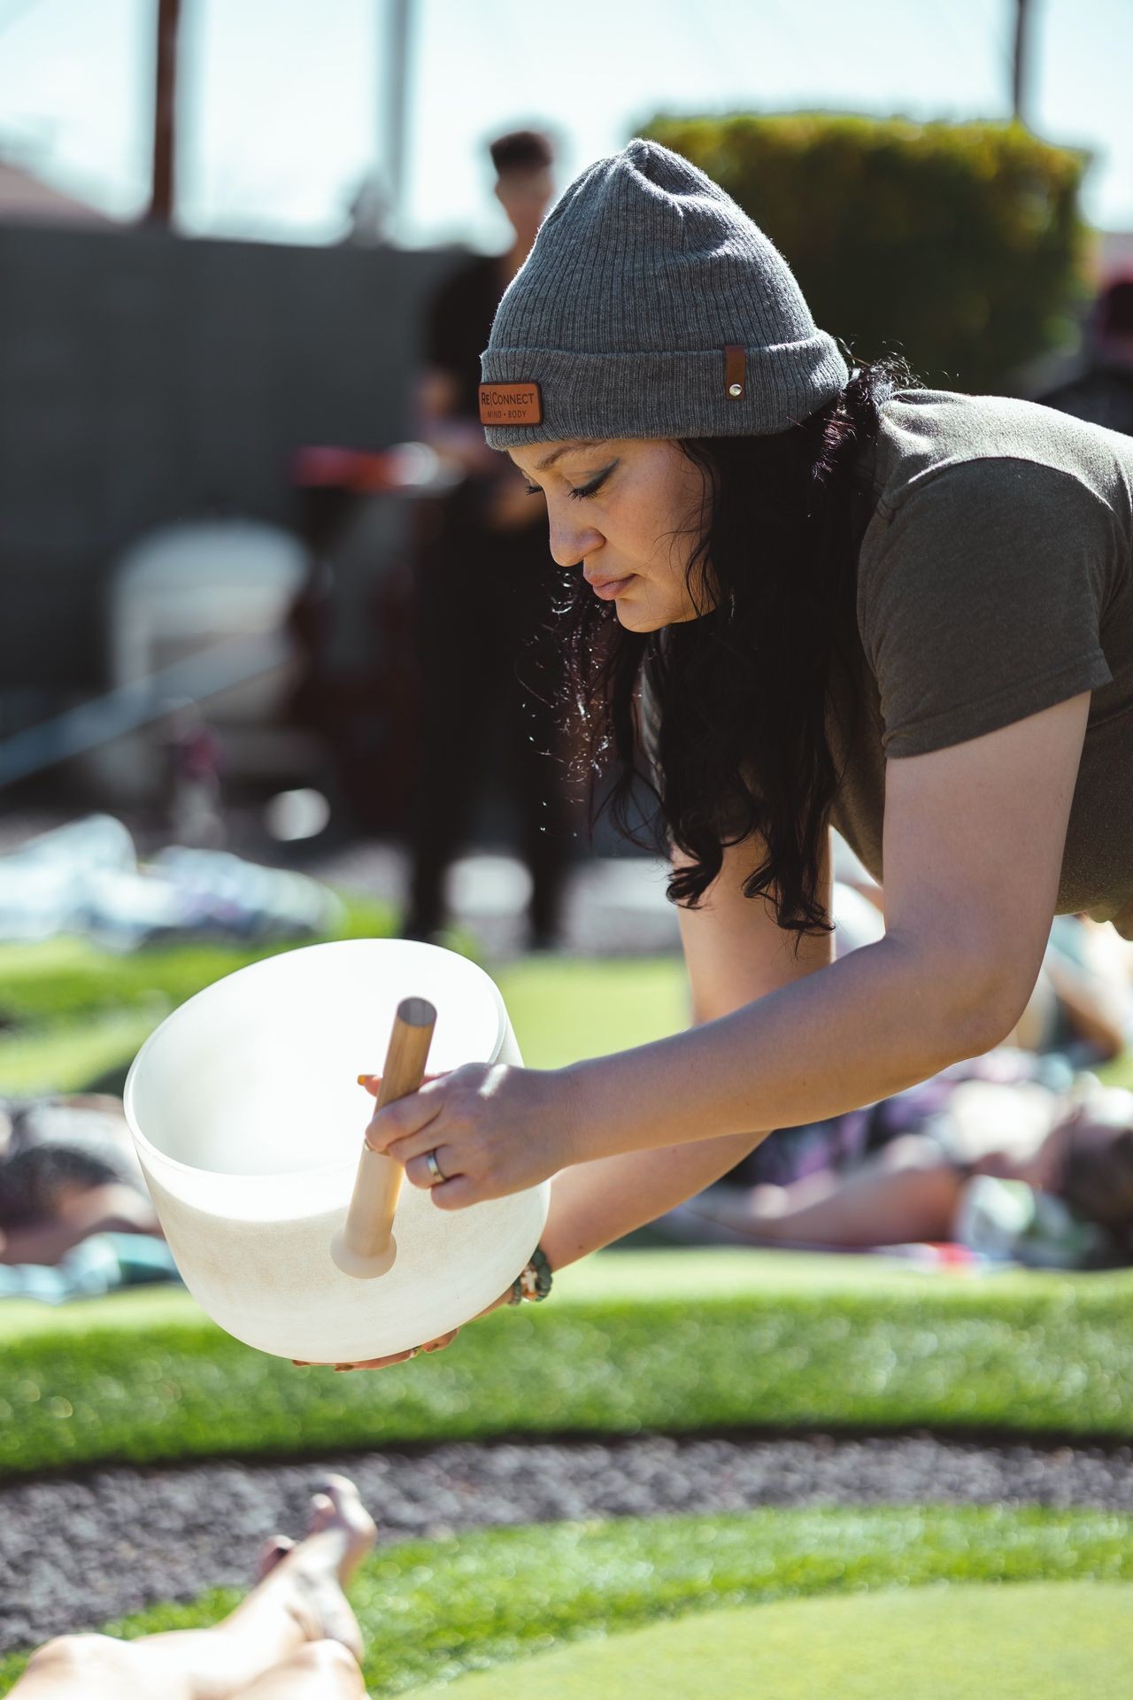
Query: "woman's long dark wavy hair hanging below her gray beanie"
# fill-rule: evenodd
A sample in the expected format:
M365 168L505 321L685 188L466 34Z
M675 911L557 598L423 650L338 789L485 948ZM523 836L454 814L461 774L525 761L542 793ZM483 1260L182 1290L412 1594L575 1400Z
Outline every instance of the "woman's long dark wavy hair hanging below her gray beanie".
M685 852L668 884L673 903L698 908L724 848L758 833L764 857L744 896L764 898L795 933L827 930L817 879L839 784L829 690L854 636L854 462L880 406L912 386L902 360L880 360L778 435L679 442L705 474L703 510L688 520L688 593L705 609L696 619L632 632L578 571L564 580L554 636L581 733L574 777L589 784L591 824L608 808L639 847ZM642 682L652 706L644 777L657 804L647 838L635 824ZM613 784L596 802L596 779L610 768Z

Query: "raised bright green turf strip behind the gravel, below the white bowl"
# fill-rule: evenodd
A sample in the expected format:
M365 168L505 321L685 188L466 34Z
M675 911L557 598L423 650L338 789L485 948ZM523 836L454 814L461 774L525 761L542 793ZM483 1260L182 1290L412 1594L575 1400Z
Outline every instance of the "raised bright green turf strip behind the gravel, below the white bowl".
M1133 1431L1133 1273L608 1251L377 1372L294 1368L180 1292L0 1307L0 1474L503 1433Z

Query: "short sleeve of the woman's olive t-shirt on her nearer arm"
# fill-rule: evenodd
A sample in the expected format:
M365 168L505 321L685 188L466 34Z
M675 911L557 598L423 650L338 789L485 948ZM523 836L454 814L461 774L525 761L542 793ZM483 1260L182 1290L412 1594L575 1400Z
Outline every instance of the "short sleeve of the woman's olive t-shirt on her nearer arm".
M1104 502L1024 459L967 461L873 520L858 622L890 756L997 731L1111 680Z

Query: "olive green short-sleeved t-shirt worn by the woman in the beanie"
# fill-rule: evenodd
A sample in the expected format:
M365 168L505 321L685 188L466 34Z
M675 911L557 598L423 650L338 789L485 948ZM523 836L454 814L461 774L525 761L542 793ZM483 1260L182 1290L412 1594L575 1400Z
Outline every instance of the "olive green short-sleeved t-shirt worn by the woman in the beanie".
M883 879L887 758L1089 690L1058 911L1133 937L1133 439L1029 401L909 389L882 408L861 473L877 507L861 665L832 697L834 824Z

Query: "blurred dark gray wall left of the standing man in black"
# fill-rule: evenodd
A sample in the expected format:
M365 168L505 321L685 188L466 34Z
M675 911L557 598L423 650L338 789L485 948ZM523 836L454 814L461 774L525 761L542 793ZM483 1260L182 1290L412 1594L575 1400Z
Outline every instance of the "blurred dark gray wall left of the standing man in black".
M216 508L292 524L302 444L409 432L455 255L0 228L0 731L105 682L122 549Z

